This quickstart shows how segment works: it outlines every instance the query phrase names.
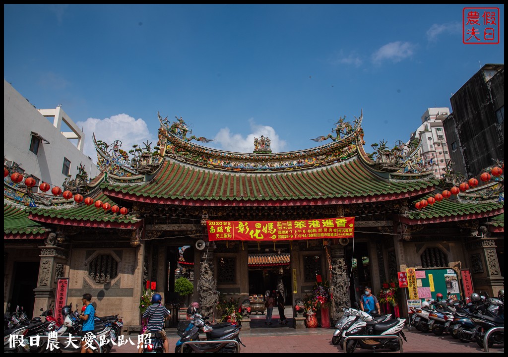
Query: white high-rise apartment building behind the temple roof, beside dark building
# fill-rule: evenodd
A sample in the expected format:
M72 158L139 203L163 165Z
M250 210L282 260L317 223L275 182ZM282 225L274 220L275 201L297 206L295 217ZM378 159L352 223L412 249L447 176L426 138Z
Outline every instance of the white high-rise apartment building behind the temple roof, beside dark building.
M446 136L442 121L450 115L449 108L428 108L422 115L422 125L411 133L412 140L419 140L423 136L419 153L425 161L426 167L432 170L436 178L441 178L450 160Z

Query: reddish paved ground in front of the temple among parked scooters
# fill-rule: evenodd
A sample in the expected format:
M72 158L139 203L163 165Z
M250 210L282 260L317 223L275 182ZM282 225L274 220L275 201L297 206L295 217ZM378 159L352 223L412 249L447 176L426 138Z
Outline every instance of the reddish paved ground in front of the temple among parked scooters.
M272 326L265 326L264 320L259 321L259 326L250 331L242 331L240 337L246 347L241 346L240 353L343 353L339 346L331 343L334 329L302 329L295 330L292 327L280 326L274 322ZM174 353L175 343L179 337L176 329L167 329L170 352ZM405 330L407 342L403 344L404 353L478 353L483 352L475 342L462 343L444 334L423 334L416 330ZM132 334L133 342L137 342L138 335ZM128 343L121 347L115 347L111 352L134 353L136 346ZM372 353L371 350L357 349L355 353ZM378 350L376 352L382 352ZM383 350L383 352L390 352ZM490 352L504 352L504 346L491 348Z

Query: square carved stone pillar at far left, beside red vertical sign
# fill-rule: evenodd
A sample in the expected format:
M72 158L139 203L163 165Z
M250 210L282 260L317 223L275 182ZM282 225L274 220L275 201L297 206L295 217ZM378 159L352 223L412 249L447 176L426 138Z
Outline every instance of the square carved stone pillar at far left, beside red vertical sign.
M56 281L58 278L65 277L67 260L69 252L67 249L56 246L57 235L50 233L45 240L45 246L41 249L41 263L39 266L39 277L37 279L37 287L34 289L35 315L38 315L40 309L47 310L51 303L55 300Z

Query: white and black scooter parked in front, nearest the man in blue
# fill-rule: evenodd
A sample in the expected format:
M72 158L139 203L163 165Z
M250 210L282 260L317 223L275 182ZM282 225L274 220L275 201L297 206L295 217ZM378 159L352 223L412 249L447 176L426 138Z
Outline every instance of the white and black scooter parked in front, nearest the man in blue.
M355 349L373 349L389 348L392 351L400 349L399 340L396 338L376 338L386 335L400 335L404 341L407 342L402 329L404 328L405 319L396 318L393 320L386 320L383 322L374 323L367 326L368 314L364 311L359 311L360 318L355 321L347 331L343 333L343 338L348 336L362 336L369 335L368 339L350 339L346 342L346 353L353 353Z

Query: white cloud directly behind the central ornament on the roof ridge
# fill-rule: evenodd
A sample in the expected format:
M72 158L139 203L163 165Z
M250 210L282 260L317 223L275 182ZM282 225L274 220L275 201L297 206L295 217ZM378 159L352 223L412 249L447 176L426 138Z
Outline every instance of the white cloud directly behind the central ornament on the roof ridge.
M210 143L210 146L220 147L227 151L251 153L254 150L254 138L259 138L263 135L270 139L272 152L284 151L286 142L280 139L273 127L256 124L252 118L248 122L250 134L247 134L246 137L243 137L242 134L231 133L228 127L224 127L215 135L214 141Z

